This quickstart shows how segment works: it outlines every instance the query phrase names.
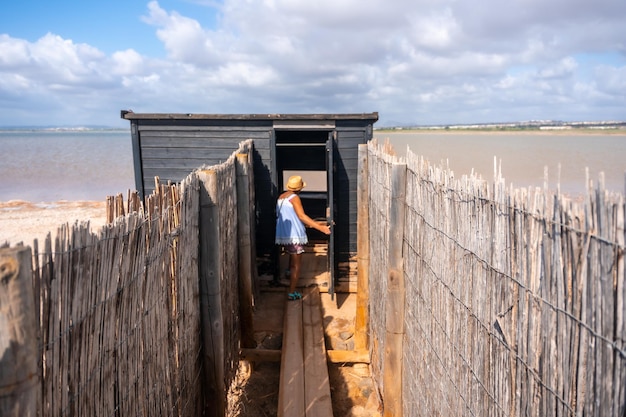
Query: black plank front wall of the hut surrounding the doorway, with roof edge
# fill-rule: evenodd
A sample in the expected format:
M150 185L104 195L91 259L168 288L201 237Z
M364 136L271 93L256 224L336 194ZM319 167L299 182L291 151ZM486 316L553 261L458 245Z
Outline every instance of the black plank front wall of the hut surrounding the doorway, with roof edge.
M238 144L254 141L256 247L273 253L275 199L279 186L276 129L335 133L336 260L356 255L358 145L372 138L378 115L170 115L122 112L131 122L135 183L140 195L154 190L155 177L176 183L195 168L224 162ZM302 161L306 165L306 160Z

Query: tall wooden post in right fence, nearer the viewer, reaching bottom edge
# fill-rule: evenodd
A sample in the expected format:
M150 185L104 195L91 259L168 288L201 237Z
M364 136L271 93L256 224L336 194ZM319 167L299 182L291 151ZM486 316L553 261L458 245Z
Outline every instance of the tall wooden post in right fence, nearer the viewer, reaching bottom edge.
M391 207L389 210L389 275L385 311L385 353L383 358L384 415L402 417L404 341L404 270L402 246L406 207L406 164L391 167Z

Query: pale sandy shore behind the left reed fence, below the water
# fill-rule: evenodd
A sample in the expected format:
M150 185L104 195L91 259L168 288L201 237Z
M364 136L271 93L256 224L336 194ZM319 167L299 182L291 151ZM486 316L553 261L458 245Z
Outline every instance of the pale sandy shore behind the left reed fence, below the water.
M0 245L23 243L32 246L37 239L40 246L48 233L56 236L63 224L89 222L94 233L106 223L106 202L55 201L31 203L28 201L0 202Z

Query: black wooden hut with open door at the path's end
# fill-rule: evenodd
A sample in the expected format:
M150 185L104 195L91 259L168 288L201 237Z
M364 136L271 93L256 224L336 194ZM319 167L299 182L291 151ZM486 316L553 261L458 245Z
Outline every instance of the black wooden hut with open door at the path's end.
M155 176L178 182L197 167L223 162L241 141L253 139L258 254L275 254L276 198L289 176L300 174L307 182L301 194L305 211L334 223L328 240L329 290L347 273L338 265L356 255L358 145L372 138L378 113L122 111L121 117L130 121L135 183L142 196L152 192ZM311 232L311 240L322 238L327 239Z

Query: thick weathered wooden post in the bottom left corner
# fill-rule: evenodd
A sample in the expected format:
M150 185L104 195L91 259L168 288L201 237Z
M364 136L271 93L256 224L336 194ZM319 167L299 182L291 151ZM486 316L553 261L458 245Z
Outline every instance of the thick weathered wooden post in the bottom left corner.
M0 415L36 416L41 403L30 247L0 249Z

